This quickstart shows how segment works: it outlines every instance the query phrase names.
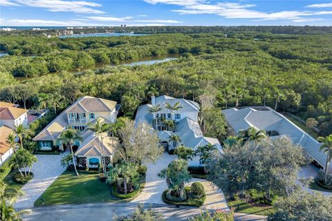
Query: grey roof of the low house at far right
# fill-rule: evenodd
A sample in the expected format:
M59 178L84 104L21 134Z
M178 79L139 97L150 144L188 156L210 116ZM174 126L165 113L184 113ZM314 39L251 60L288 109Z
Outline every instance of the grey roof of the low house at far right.
M284 115L270 109L269 111L257 111L254 108L230 108L222 111L228 123L235 133L246 130L250 126L265 130L277 131L279 135L289 137L294 144L299 144L306 153L311 155L321 166L325 166L326 154L320 151L320 142L313 139L308 133L293 124ZM332 164L329 166L332 169Z

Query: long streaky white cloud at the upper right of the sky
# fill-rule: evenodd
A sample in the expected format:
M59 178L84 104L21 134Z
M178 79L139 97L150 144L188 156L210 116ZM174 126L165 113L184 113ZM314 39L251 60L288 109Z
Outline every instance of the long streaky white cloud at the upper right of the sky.
M253 10L255 7L253 4L243 4L243 3L230 3L230 2L219 2L212 3L211 1L205 0L145 0L145 2L150 4L164 3L169 5L180 6L181 9L172 10L173 12L178 12L181 15L219 15L225 18L231 19L261 19L261 20L276 20L276 19L288 19L294 22L304 21L306 16L313 15L328 15L332 14L332 11L324 12L312 12L312 11L281 11L281 12L261 12ZM324 4L329 5L329 4ZM314 18L317 19L317 18ZM313 19L310 19L313 21Z

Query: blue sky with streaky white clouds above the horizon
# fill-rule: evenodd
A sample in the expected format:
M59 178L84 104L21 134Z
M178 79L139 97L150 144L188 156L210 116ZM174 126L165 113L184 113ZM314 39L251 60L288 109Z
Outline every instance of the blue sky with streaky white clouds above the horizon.
M332 0L0 0L0 26L332 25Z

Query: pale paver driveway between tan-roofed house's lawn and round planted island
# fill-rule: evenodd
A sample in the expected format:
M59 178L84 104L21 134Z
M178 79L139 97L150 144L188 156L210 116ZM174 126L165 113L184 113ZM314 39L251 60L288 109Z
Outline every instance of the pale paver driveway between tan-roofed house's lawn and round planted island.
M177 158L177 155L164 153L155 164L148 164L145 188L140 195L131 202L165 204L163 200L161 200L161 195L163 191L167 189L167 184L165 179L158 177L158 173L167 168L168 164Z

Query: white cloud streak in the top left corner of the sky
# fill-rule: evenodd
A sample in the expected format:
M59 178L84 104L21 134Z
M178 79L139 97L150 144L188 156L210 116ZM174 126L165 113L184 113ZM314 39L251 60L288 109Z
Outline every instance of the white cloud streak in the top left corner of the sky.
M94 9L101 7L99 3L91 1L65 1L65 0L1 0L4 6L29 6L45 8L50 12L76 12L87 14L102 14L101 10Z

